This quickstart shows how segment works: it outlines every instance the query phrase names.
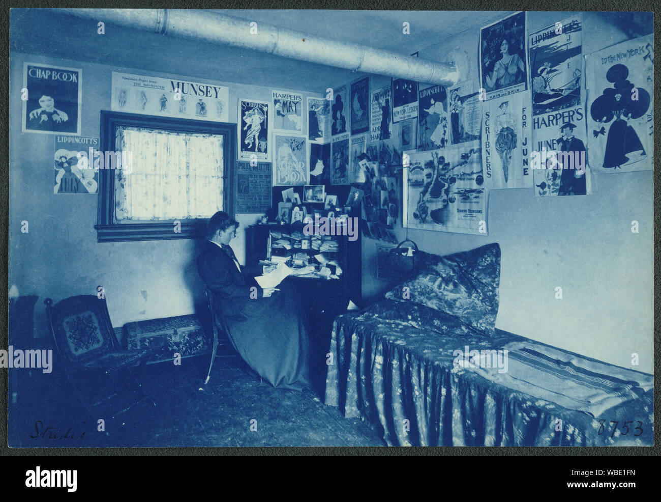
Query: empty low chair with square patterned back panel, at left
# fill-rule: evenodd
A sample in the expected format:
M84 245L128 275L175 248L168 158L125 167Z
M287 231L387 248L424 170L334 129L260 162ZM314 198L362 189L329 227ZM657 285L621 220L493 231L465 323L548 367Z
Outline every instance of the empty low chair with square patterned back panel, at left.
M56 305L46 298L44 304L61 364L90 413L114 419L141 401L156 406L132 370L144 368L151 350L122 350L105 299L78 295Z

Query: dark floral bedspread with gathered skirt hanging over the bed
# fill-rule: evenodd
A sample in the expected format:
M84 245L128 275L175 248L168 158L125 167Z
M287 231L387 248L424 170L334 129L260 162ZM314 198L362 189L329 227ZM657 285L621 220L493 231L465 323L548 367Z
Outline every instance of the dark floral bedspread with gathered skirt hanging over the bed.
M585 399L601 392L601 409L605 407L592 416L550 401L549 394L535 385L507 387L497 370L492 370L490 379L481 368L453 364L455 350L463 351L465 346L498 350L514 342L531 340L502 330L496 330L494 337L483 336L457 317L384 299L362 313L336 318L325 403L339 407L345 417L361 417L391 446L653 444L653 389L646 390L651 376L627 374L637 374L645 383L615 379L613 385L625 402L612 407L603 405L614 402L603 399L603 389L590 389ZM621 368L559 352L588 370L594 370L590 364L601 364L603 374L593 371L594 381L622 374ZM588 370L580 371L588 374Z

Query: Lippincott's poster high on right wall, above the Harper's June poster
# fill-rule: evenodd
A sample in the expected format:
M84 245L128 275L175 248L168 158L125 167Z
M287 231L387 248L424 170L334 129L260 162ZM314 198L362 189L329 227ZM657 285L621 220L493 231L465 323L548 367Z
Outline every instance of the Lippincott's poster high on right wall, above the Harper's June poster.
M533 115L582 103L582 21L577 14L528 38Z

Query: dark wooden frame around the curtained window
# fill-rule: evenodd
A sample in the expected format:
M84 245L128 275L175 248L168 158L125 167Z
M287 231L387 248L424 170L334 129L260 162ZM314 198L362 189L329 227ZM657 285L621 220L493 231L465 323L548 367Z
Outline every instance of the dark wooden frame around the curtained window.
M197 121L101 111L100 150L114 152L118 126L188 132L190 134L215 134L223 136L223 211L233 215L234 168L236 162L237 125L223 122ZM130 175L128 175L130 176ZM115 172L98 170L97 242L126 242L137 240L165 240L198 238L204 232L208 219L180 219L180 232L175 232L176 220L159 220L149 223L118 223L115 219Z

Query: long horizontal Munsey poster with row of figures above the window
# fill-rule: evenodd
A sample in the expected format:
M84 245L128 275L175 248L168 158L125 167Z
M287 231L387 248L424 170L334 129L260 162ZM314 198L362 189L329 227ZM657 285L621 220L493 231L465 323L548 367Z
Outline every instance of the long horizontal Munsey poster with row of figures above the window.
M215 83L112 72L110 109L229 122L229 88Z

